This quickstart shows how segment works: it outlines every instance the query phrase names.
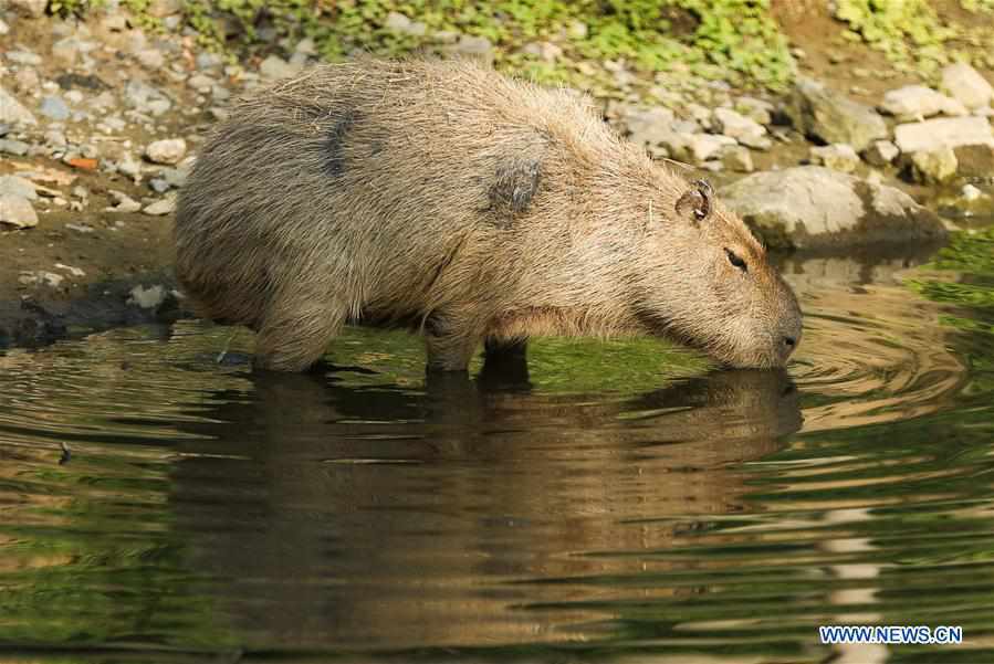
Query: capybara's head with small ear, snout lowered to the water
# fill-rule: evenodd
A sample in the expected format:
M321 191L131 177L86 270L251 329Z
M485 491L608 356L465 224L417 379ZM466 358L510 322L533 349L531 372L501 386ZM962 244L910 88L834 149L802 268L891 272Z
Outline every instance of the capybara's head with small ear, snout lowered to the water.
M703 180L661 200L670 209L650 213L642 315L725 365L786 365L801 341L801 307L763 245Z

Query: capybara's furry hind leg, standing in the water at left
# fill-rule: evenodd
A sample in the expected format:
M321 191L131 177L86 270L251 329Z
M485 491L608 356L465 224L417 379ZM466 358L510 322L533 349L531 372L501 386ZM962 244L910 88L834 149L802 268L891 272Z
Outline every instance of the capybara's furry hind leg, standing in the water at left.
M345 322L339 306L286 303L266 313L255 338L259 369L304 371L324 355Z

